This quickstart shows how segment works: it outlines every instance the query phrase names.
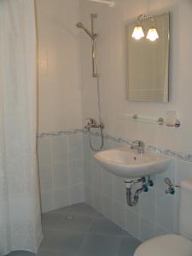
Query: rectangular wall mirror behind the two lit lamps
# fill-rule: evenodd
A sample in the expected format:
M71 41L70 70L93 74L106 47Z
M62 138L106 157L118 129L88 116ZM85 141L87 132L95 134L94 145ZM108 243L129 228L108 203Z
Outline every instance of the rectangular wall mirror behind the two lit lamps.
M146 38L151 20L142 20L144 38L132 38L137 22L126 26L126 96L130 101L168 102L169 14L153 16L159 38Z

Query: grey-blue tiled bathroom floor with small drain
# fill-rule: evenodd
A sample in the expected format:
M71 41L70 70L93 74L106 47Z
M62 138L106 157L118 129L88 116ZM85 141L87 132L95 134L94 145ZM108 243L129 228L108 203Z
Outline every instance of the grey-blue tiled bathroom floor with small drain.
M44 241L38 256L132 256L140 243L84 203L44 213L43 230Z

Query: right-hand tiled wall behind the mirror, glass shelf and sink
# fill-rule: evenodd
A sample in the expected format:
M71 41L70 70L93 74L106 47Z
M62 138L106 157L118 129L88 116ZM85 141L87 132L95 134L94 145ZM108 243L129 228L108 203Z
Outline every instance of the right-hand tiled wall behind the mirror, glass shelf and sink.
M140 139L156 148L170 149L183 154L192 154L192 115L189 113L192 95L192 50L189 26L192 24L192 3L188 0L119 0L114 8L107 5L80 1L80 18L89 26L90 14L96 19L96 41L99 73L101 79L102 120L105 133L124 137L131 141ZM130 102L125 97L125 24L136 20L141 14L160 14L170 11L170 101ZM186 40L188 38L188 40ZM94 117L96 109L96 79L90 77L90 40L81 33L81 83L83 120ZM165 118L166 110L177 110L180 128L152 125L145 122L125 120L124 114L137 114L158 119ZM108 144L109 143L109 144ZM115 144L107 142L106 147ZM179 182L183 177L192 177L192 164L173 160L164 174L154 177L155 186L141 196L137 207L125 204L125 189L122 179L114 177L96 165L84 137L84 183L85 197L92 206L108 218L129 230L142 240L148 237L177 231L179 195L166 195L163 177L172 177Z

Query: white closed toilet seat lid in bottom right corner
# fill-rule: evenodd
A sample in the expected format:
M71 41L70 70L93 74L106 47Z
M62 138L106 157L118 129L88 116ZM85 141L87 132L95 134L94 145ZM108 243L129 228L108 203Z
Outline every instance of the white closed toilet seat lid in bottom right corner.
M154 237L137 247L134 256L192 256L192 241L173 234Z

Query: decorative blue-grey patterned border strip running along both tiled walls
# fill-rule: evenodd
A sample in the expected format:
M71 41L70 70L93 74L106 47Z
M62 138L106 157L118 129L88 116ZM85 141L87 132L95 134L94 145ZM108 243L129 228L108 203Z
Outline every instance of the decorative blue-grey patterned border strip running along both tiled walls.
M73 135L73 134L77 134L77 133L81 133L81 134L88 134L87 131L84 131L83 129L74 129L74 130L68 130L68 131L54 131L54 132L43 132L38 134L38 138L43 138L43 137L59 137L59 136L64 136L64 135ZM91 132L91 135L95 136L95 137L100 137L100 133L99 132ZM106 140L109 141L113 141L115 143L119 143L119 144L125 144L125 145L131 145L132 141L129 139L125 139L122 137L113 137L111 135L108 134L104 134L104 138ZM192 163L192 154L184 154L181 152L177 152L177 151L172 151L170 149L164 149L164 148L156 148L152 145L146 145L146 148L149 151L152 152L158 152L160 154L165 154L167 156L171 156L173 158L177 158L178 160L184 160L184 161L188 161L190 163Z

